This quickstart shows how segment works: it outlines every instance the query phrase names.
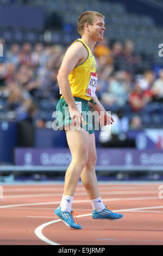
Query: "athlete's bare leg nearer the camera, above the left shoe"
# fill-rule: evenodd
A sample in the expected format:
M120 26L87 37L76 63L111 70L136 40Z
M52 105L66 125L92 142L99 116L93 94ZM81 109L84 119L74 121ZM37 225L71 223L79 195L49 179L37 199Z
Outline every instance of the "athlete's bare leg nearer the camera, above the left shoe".
M87 163L89 151L89 133L85 130L66 131L67 143L71 151L72 161L66 171L64 194L74 196L80 174Z

